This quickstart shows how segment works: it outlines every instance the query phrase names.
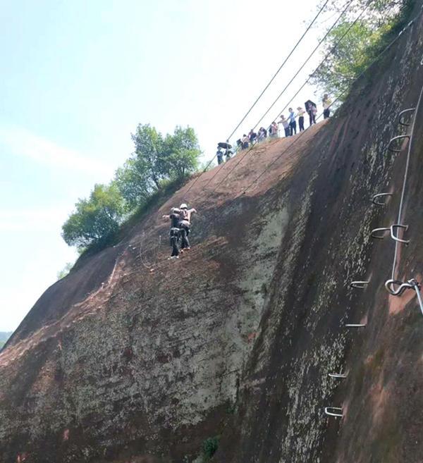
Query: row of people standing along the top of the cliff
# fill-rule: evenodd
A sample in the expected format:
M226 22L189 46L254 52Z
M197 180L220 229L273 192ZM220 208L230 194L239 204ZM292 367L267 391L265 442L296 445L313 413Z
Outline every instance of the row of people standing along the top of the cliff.
M328 94L324 94L321 103L323 106L324 119L327 119L331 114L332 104L332 101L331 99L329 99ZM285 137L292 137L297 133L297 121L298 131L302 132L303 130L305 130L305 114L309 116L309 127L316 123L317 105L313 101L307 100L305 102L305 109L301 106L298 106L296 112L293 110L293 108L289 108L288 116L282 114L280 120L277 123L276 121L273 121L267 129L264 127L260 127L257 133L254 131L254 129L251 129L248 135L244 134L243 137L237 140L237 151L240 149L247 149L253 144L263 142L264 140L266 140L267 137L276 138L282 137L283 135ZM219 164L223 163L223 156L226 156L226 161L228 161L228 159L231 158L232 154L232 149L226 147L225 152L223 152L221 151L221 147L218 147L216 153L217 162Z

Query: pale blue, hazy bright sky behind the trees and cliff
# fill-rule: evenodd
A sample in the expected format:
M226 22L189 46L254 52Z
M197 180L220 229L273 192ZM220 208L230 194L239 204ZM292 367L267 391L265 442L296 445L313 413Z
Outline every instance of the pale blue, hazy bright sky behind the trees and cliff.
M190 125L209 159L300 37L316 2L0 4L0 331L7 331L75 260L61 224L79 197L109 181L128 158L137 123L162 132ZM328 18L309 33L238 136L290 80ZM309 97L312 88L294 107Z

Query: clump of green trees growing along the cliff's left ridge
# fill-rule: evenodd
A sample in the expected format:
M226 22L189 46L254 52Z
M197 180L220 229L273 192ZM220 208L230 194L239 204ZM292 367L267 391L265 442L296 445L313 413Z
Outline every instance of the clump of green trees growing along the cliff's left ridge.
M75 204L62 227L68 245L80 251L111 245L124 221L197 170L201 150L190 127L177 126L164 136L151 125L140 124L132 139L135 151L109 185L94 185L90 197Z

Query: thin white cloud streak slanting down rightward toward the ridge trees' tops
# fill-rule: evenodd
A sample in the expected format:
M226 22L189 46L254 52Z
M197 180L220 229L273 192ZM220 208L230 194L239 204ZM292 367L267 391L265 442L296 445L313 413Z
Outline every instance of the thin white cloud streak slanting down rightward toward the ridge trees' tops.
M74 149L61 147L23 128L0 127L0 143L4 144L13 154L25 156L52 167L109 176L114 172L113 166L103 161L92 159Z

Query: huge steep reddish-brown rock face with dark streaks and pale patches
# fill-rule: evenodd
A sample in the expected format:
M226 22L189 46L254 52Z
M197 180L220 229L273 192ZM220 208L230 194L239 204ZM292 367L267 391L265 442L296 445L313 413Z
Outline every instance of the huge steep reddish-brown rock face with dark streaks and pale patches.
M191 180L49 288L0 354L0 461L200 462L219 435L222 463L421 462L423 316L369 235L398 223L410 152L393 273L422 280L422 45L419 16L336 118ZM182 201L192 249L168 261Z

